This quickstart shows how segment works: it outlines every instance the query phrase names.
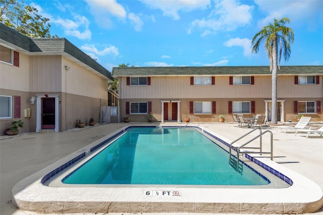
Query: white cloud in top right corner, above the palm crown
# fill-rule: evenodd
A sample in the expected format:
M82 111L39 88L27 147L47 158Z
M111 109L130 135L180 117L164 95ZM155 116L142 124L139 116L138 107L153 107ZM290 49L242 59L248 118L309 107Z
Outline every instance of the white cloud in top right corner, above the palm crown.
M311 27L323 22L321 17L323 1L281 0L279 4L273 4L271 1L255 0L255 3L261 11L268 14L258 21L258 28L272 23L274 18L283 17L288 17L291 22L294 21L298 25L307 22L306 24ZM320 17L315 17L316 15Z

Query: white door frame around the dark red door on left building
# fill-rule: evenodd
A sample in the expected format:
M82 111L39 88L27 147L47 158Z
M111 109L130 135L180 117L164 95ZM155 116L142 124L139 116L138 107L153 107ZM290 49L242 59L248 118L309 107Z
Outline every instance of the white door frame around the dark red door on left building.
M36 95L36 132L41 130L41 98L55 98L55 132L59 132L59 95Z

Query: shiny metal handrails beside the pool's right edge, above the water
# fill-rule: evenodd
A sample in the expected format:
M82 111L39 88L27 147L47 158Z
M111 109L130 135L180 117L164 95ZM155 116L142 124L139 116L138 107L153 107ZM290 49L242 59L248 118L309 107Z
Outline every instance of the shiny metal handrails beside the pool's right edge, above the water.
M258 128L257 128L258 129ZM254 129L254 130L257 130L257 129ZM254 131L252 130L252 131ZM261 131L261 129L259 129ZM251 132L252 132L251 131ZM251 133L249 132L249 133ZM271 151L270 152L263 152L262 151L262 135L264 135L265 133L269 132L270 135L271 135ZM248 134L249 134L248 133ZM246 136L247 134L243 135L242 137ZM240 140L242 137L238 138L237 140ZM252 142L253 140L257 139L258 137L260 137L260 144L259 144L259 147L245 147L245 145L249 144L250 142ZM236 142L237 140L233 141L232 143ZM259 153L259 154L271 154L271 160L273 160L274 158L274 154L273 154L273 150L274 150L274 147L273 147L273 132L267 130L267 131L264 131L262 133L260 133L259 135L255 136L254 138L250 139L249 141L245 142L244 144L240 145L240 146L232 146L232 143L230 144L230 150L229 150L229 154L230 154L230 158L231 158L231 149L232 148L235 148L237 149L237 167L239 166L239 153L240 153L240 149L243 149L243 148L252 148L252 149L259 149L260 151L245 151L245 153ZM229 159L230 159L229 158Z

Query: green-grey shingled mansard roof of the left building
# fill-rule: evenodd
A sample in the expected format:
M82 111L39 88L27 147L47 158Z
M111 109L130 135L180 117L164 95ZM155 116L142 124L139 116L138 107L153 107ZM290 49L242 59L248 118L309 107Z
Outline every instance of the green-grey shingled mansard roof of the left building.
M114 80L107 69L86 55L86 53L73 45L66 38L29 38L0 23L0 39L30 53L37 53L38 55L63 55L69 57L72 61L74 60L75 62L87 65L89 70L97 71L97 74L109 78L112 81Z

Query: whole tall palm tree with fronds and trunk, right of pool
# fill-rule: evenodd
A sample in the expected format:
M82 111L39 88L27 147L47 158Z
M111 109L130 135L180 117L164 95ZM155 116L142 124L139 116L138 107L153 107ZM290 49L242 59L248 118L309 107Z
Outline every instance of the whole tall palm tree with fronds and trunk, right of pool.
M277 68L280 69L282 51L285 61L291 56L291 44L294 42L293 29L286 27L289 18L274 19L274 24L264 26L252 39L252 53L259 51L259 45L264 42L264 48L270 60L270 71L272 72L272 124L277 124ZM279 59L278 58L279 45Z

